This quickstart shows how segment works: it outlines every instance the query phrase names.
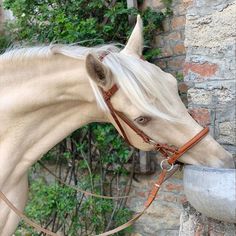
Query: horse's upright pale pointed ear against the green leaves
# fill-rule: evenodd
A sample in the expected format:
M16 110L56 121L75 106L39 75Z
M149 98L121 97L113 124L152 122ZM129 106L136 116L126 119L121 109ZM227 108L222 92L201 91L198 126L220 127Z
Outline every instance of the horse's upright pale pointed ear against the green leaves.
M131 36L125 48L121 52L141 57L142 51L143 51L143 21L140 15L138 15L137 22L131 33Z

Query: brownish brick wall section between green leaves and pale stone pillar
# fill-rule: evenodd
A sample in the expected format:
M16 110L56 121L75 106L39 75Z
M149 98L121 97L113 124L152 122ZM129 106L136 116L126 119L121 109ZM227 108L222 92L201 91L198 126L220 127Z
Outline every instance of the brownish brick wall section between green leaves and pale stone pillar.
M185 60L185 15L190 4L189 0L173 0L171 6L173 15L163 22L164 32L157 32L155 38L154 46L159 47L162 52L155 63L163 70L177 76L182 74ZM164 9L161 0L146 0L145 7L147 6L157 11Z

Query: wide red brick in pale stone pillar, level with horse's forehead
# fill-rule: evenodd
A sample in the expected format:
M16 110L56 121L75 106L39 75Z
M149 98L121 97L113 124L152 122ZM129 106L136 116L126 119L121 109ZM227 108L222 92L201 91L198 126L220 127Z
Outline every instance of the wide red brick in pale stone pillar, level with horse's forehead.
M186 75L189 71L199 74L202 77L213 76L218 69L217 64L211 64L208 62L199 64L194 62L186 62L184 64L184 74Z

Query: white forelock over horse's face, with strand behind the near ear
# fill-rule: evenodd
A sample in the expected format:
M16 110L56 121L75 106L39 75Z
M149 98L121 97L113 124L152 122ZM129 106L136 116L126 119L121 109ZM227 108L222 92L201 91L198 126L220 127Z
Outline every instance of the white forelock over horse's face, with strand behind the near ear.
M103 63L111 69L117 79L115 82L131 99L132 104L144 114L177 121L173 113L175 97L169 89L169 81L173 79L171 75L147 61L123 53L111 52ZM90 83L100 107L107 110L100 89L92 80ZM164 107L165 112L160 111L159 107Z

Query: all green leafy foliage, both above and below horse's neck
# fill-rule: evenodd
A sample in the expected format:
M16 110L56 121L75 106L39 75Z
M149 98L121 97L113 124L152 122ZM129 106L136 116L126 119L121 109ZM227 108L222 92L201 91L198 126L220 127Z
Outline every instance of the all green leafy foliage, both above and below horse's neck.
M169 2L163 12L150 8L143 12L127 9L125 0L5 0L16 19L6 26L0 38L0 50L9 42L20 44L77 43L94 46L110 42L125 44L132 26L129 16L141 14L145 45L151 45L155 32L170 14ZM142 0L138 1L142 4ZM157 48L145 48L148 60L159 55ZM90 124L76 131L43 158L56 165L61 180L87 191L103 195L127 194L132 180L126 166L135 152L117 135L111 125ZM132 165L132 168L134 166ZM33 174L43 171L36 164ZM44 172L43 172L44 173ZM132 173L132 172L131 172ZM42 174L44 176L44 174ZM131 218L126 201L86 197L71 188L45 178L30 178L30 202L26 214L44 227L61 230L65 235L92 235L117 227ZM115 186L115 187L114 187ZM125 235L132 228L116 235ZM17 236L38 235L21 223Z

